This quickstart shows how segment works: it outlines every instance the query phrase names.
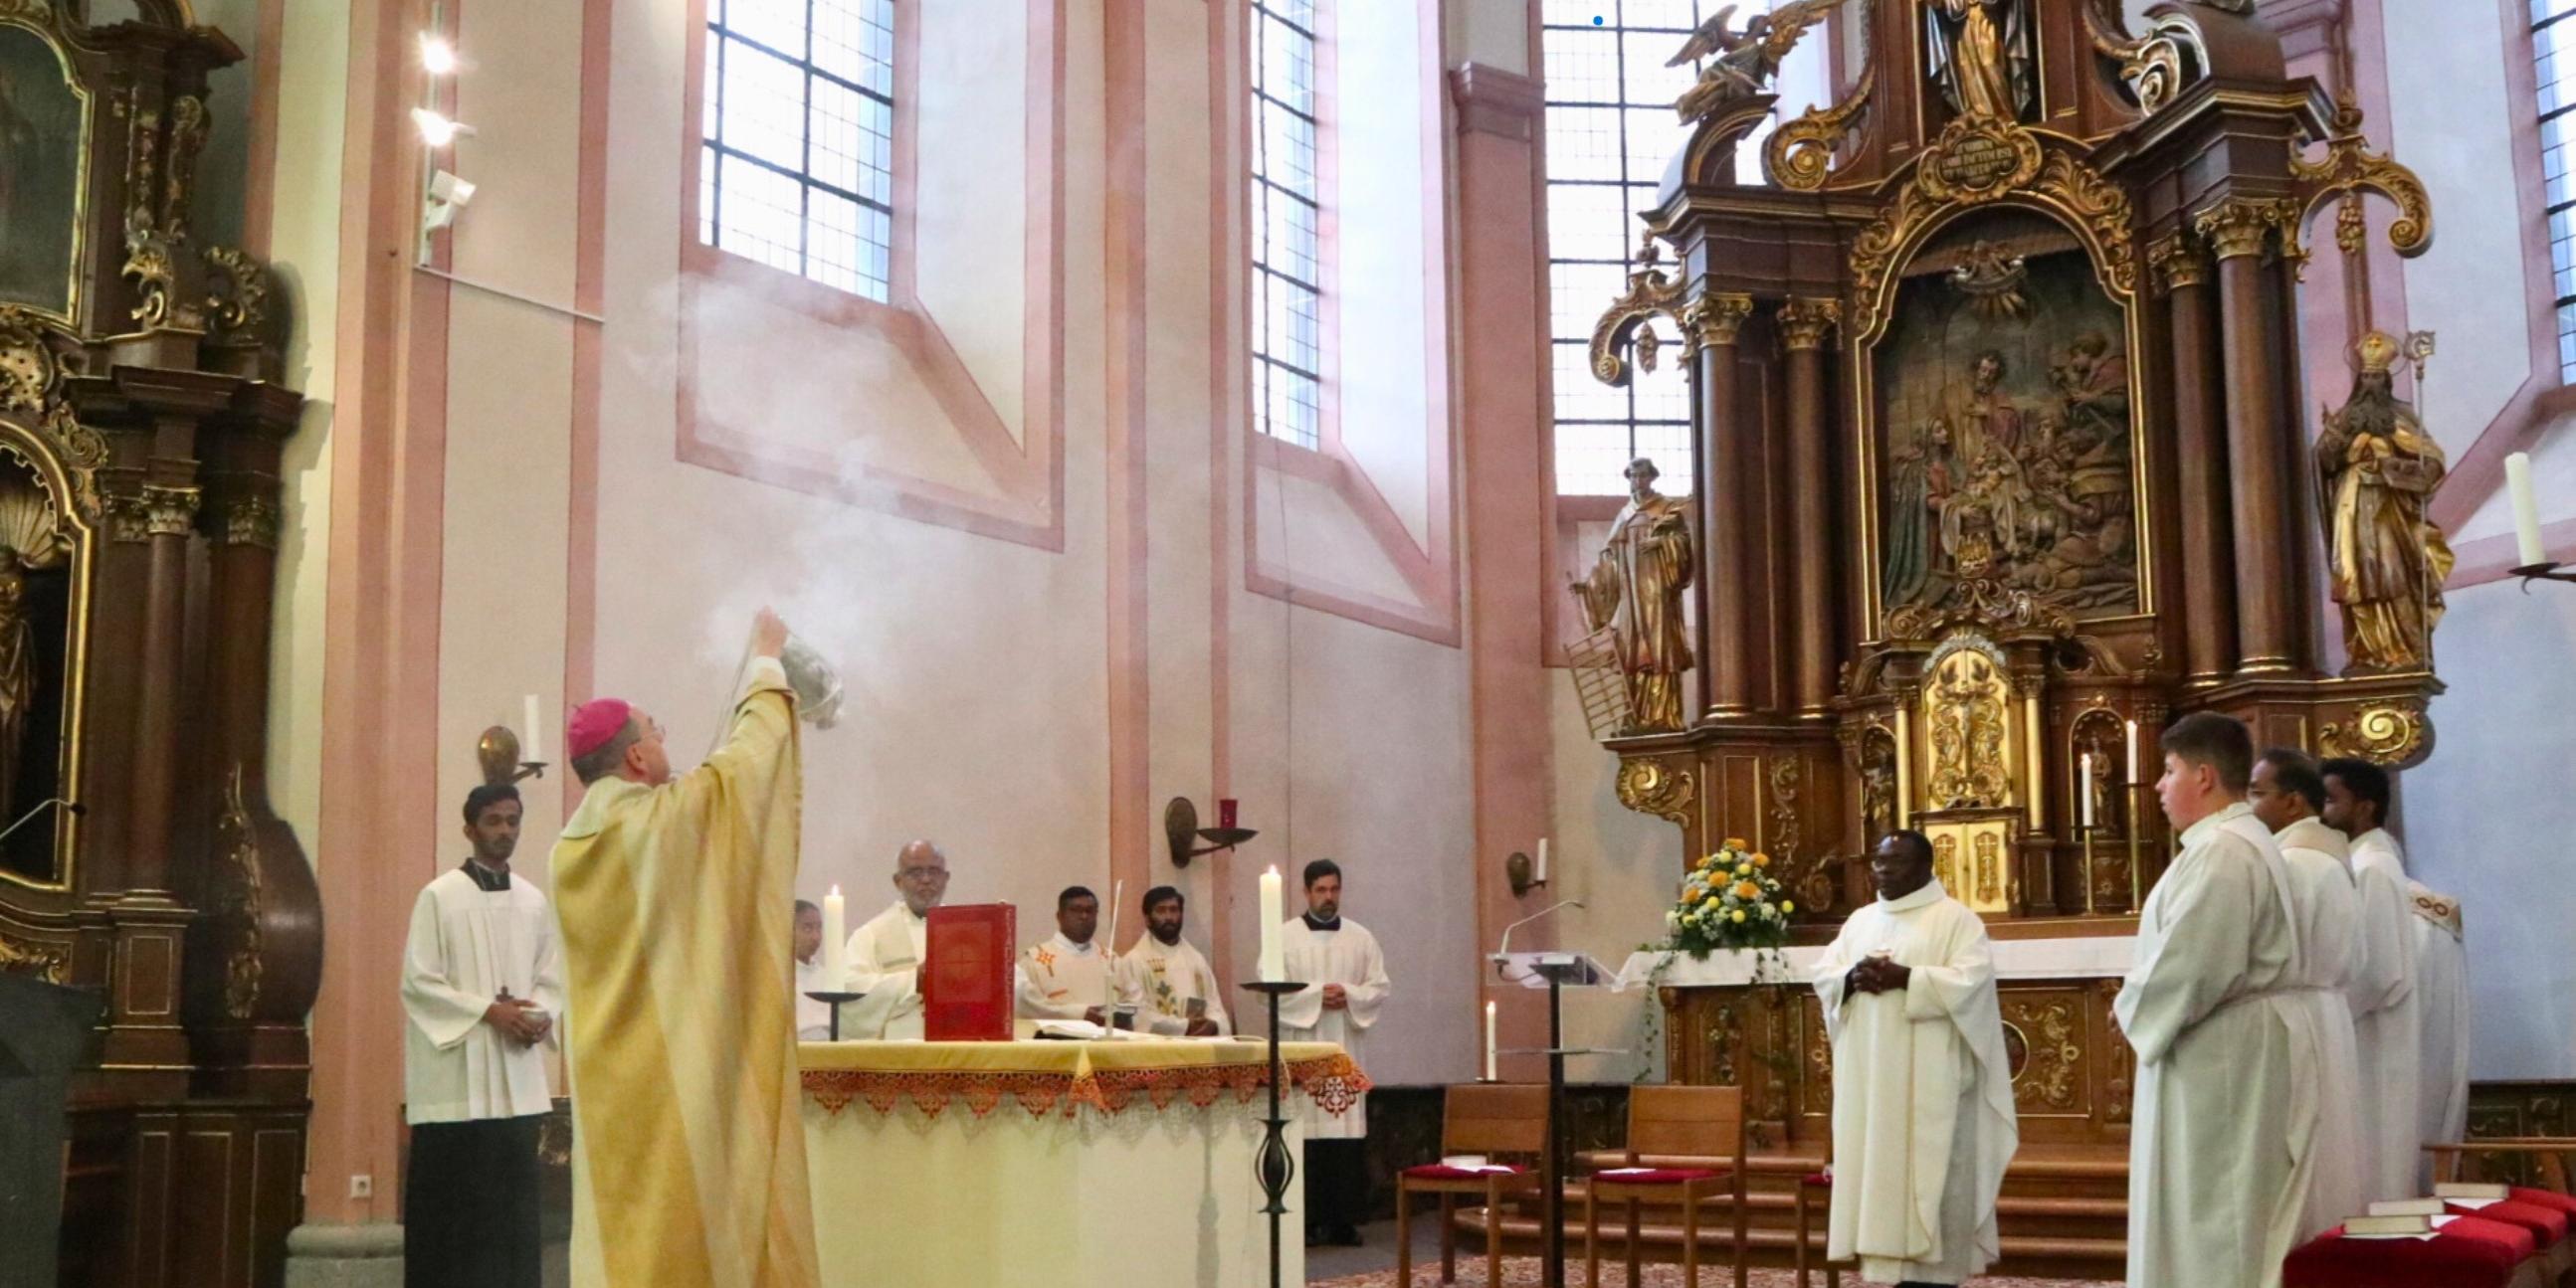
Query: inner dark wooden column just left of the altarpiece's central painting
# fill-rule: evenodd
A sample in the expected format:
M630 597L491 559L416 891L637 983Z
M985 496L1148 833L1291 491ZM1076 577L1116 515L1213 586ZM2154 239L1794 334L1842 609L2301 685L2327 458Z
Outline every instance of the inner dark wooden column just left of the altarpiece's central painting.
M1790 299L1780 307L1780 345L1788 348L1788 492L1798 564L1790 572L1793 613L1790 703L1801 719L1834 708L1834 471L1829 440L1834 415L1824 394L1824 337L1842 325L1842 301Z

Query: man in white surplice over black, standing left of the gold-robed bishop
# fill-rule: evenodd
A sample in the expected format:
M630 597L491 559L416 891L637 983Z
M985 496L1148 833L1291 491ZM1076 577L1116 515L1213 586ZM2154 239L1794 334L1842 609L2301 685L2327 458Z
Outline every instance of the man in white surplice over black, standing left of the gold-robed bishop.
M402 945L407 1288L536 1288L536 1131L554 1108L546 1041L564 961L546 896L510 876L518 788L466 793L474 853L412 902Z

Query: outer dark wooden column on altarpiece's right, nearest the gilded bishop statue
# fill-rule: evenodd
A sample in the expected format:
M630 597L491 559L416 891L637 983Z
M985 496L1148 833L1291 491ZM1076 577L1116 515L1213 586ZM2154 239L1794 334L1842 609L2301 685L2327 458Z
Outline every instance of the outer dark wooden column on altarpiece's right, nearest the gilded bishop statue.
M2295 667L2298 559L2287 544L2295 502L2287 492L2280 425L2280 343L2272 335L2264 250L2277 206L2228 198L2200 216L2218 252L2218 330L2228 392L2228 518L2236 538L2236 672Z

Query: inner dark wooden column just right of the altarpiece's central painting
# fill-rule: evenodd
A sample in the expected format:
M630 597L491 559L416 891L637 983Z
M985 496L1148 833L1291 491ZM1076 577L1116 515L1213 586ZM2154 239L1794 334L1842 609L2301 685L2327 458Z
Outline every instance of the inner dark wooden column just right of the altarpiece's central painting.
M2192 683L2236 670L2236 567L2228 538L2228 469L2218 392L2218 327L2210 319L2210 260L2190 234L2154 247L2174 322L2174 484L2182 492L2184 665Z

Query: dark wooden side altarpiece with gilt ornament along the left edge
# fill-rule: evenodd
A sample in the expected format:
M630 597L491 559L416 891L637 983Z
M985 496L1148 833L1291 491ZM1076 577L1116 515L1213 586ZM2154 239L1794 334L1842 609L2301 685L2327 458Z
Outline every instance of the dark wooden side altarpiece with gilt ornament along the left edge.
M0 0L0 969L95 989L62 1283L278 1283L322 969L265 799L278 384L265 265L198 232L185 0Z

